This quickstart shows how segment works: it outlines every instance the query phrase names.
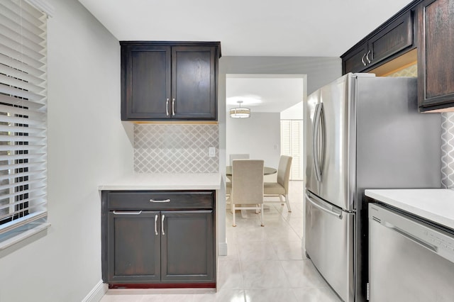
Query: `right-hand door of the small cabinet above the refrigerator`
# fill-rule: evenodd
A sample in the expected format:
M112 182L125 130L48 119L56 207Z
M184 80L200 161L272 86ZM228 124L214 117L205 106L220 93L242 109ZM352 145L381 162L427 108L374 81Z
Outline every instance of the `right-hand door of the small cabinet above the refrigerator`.
M413 22L411 11L397 18L369 40L372 64L391 57L413 45Z

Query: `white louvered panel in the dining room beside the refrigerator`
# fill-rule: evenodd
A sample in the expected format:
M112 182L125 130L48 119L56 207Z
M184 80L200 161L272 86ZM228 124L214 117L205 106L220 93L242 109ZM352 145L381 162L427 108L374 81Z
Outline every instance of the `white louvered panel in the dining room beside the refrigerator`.
M303 121L281 120L281 152L292 157L291 180L302 180Z

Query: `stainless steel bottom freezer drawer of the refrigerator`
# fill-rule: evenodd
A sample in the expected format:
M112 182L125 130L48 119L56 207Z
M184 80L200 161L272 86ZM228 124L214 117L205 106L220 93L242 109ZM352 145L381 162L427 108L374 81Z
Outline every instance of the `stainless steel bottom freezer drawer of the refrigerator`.
M306 191L306 255L343 301L353 302L355 213Z

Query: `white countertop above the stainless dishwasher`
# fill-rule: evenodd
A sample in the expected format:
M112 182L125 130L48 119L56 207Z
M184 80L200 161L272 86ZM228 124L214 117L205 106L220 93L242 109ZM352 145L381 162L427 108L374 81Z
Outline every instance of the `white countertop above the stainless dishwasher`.
M454 190L371 189L365 195L454 230Z

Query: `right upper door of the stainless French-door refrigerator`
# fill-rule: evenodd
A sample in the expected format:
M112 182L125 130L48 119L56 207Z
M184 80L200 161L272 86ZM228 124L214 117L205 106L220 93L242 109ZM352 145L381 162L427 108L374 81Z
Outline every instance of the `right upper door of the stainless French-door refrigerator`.
M315 131L321 141L321 147L316 146L314 152L321 158L321 180L319 191L313 192L346 211L355 210L353 194L348 193L355 189L355 161L349 160L355 158L355 121L350 121L350 116L355 116L355 102L350 95L354 79L352 74L345 74L320 89L321 118L317 121L321 126L319 132Z

